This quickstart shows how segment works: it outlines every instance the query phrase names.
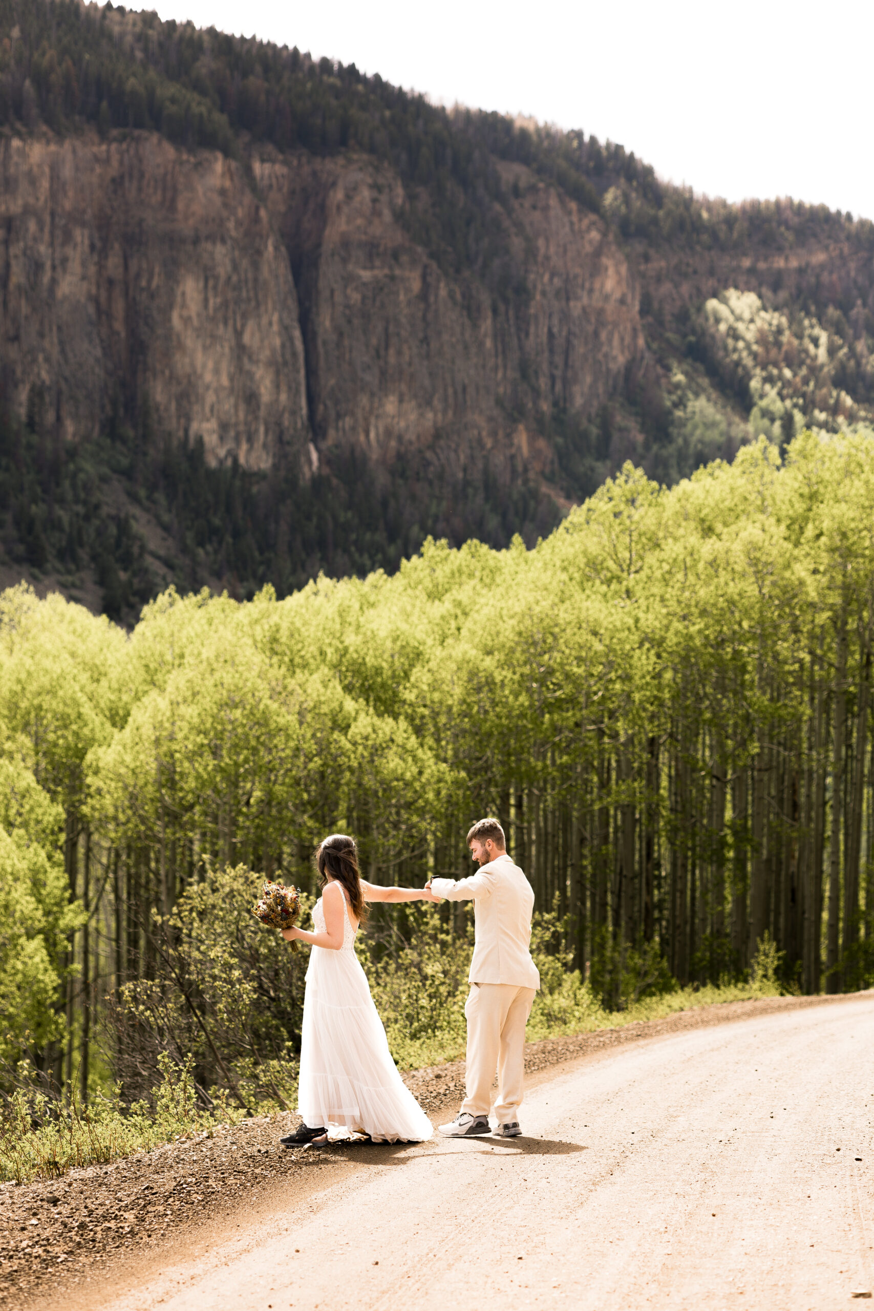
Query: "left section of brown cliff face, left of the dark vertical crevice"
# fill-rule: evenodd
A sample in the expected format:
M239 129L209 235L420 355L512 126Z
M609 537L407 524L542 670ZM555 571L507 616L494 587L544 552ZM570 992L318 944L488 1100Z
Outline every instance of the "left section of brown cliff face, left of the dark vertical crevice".
M0 140L0 370L63 438L118 399L266 468L308 433L288 257L244 172L160 136ZM33 401L31 401L33 404Z

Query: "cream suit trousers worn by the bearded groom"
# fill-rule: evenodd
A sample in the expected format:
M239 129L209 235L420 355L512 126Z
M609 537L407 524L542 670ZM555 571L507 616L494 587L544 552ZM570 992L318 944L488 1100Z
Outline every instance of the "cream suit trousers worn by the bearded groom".
M466 1097L461 1110L487 1116L498 1071L498 1124L519 1118L525 1082L525 1024L535 1000L532 987L515 983L472 983L464 1013L468 1020Z

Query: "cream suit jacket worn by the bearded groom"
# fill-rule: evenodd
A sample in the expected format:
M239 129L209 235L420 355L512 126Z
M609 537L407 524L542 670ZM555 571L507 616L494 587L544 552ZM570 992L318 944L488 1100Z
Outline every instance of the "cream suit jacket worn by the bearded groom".
M432 878L431 891L448 901L473 898L470 983L540 987L540 974L528 949L535 890L506 852L469 878Z

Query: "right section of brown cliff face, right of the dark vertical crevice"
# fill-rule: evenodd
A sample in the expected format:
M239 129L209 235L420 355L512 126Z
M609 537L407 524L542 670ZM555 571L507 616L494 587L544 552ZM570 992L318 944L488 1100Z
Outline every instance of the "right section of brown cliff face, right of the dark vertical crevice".
M643 349L634 279L604 224L525 169L495 215L527 287L506 300L440 271L373 161L297 155L254 172L295 270L320 446L390 460L452 438L535 459L537 417L590 414Z

